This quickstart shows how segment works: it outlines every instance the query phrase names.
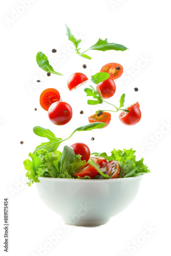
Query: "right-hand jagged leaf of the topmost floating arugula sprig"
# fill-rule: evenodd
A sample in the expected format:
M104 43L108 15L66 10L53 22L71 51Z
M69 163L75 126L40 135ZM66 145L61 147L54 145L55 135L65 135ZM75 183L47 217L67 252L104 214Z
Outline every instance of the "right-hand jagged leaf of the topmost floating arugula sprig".
M109 51L109 50L115 50L115 51L125 51L128 48L126 48L123 45L116 44L115 42L108 42L108 39L105 38L105 40L98 39L95 45L89 47L89 50L98 50L98 51Z

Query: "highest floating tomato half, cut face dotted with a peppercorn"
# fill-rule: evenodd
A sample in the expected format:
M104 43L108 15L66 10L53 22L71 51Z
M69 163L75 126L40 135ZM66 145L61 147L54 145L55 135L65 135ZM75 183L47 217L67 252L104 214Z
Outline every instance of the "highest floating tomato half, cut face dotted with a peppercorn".
M120 69L119 69L119 68ZM117 69L118 70L117 70ZM112 78L113 80L114 79L117 79L118 77L120 77L123 73L123 67L122 65L118 64L118 63L108 63L106 65L104 65L100 72L106 72L106 73L109 73L110 74L110 78Z

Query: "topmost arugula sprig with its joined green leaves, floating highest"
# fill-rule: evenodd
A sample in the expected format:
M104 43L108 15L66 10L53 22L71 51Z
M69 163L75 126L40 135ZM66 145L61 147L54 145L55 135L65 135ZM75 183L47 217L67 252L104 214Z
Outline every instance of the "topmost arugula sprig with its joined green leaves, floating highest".
M108 42L108 39L105 38L105 40L102 40L102 39L98 39L98 41L96 42L95 45L89 47L87 50L83 51L80 53L80 48L78 49L78 45L80 44L81 42L81 39L76 39L74 37L74 35L71 33L71 30L69 29L69 27L67 26L66 24L66 35L68 36L68 39L70 41L73 42L74 46L75 46L75 51L76 53L83 57L83 58L87 58L87 59L91 59L90 56L88 56L87 54L84 54L85 52L88 52L89 50L98 50L98 51L109 51L109 50L115 50L115 51L125 51L127 50L128 48L126 48L125 46L123 45L119 45L119 44L116 44L115 42Z

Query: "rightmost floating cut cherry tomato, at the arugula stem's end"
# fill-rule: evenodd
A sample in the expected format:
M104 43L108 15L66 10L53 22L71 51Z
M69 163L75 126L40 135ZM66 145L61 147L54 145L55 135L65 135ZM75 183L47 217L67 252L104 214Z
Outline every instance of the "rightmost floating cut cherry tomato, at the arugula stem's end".
M122 111L119 115L120 121L126 125L134 125L138 123L141 119L141 111L140 111L139 103L136 102L131 106L128 106L126 109L129 110L130 112L127 113L125 111Z

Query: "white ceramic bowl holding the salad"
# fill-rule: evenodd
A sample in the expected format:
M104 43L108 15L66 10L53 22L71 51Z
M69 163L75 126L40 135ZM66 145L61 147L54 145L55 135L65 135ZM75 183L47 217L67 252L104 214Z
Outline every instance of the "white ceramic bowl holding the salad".
M105 224L135 199L142 176L122 179L79 180L39 177L39 197L66 224Z

